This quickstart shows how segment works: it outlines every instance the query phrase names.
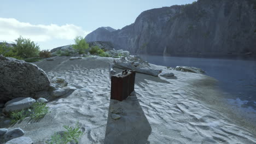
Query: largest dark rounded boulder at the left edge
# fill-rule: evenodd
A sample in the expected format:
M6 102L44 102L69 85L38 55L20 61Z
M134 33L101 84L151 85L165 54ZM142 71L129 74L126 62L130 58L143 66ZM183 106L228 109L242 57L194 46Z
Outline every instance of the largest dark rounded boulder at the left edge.
M48 91L50 81L36 64L0 55L0 103L18 97L34 98L38 91Z

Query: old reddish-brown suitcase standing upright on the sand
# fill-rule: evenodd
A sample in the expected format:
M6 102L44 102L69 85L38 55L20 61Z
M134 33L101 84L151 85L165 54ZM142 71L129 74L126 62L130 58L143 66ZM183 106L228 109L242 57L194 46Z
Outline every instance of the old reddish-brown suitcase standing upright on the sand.
M111 76L111 97L123 101L134 91L135 71L123 70L122 73Z

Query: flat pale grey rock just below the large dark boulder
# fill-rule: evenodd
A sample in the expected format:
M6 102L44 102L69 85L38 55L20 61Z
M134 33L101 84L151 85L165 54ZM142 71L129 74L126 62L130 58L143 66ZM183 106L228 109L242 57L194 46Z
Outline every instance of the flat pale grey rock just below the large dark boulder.
M4 111L11 112L15 110L27 109L35 102L36 100L32 98L15 98L5 104Z

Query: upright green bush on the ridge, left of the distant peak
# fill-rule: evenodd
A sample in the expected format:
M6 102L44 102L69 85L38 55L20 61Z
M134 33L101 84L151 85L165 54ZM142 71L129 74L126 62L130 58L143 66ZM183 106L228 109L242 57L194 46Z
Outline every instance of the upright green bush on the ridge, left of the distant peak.
M81 36L77 36L74 39L75 44L72 47L78 51L79 54L85 53L89 48L89 44Z

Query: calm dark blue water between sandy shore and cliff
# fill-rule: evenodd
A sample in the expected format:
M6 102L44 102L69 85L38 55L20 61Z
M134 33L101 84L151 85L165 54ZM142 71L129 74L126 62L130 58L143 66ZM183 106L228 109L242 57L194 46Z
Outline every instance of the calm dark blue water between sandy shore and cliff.
M219 80L229 103L256 111L256 61L139 55L149 63L168 67L189 66Z

